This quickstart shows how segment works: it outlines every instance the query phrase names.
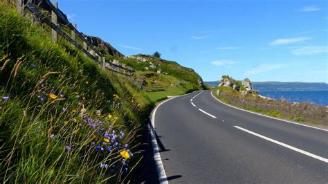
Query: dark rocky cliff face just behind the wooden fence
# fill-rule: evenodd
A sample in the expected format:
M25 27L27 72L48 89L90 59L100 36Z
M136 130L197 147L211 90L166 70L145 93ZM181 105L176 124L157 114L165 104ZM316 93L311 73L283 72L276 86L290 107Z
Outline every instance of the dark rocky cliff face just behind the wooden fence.
M95 46L96 49L98 48L98 50L102 54L109 54L116 57L124 57L124 55L118 50L116 50L116 48L113 48L111 44L104 42L104 40L102 40L101 38L85 35L83 33L82 35L87 41L91 42L91 44Z

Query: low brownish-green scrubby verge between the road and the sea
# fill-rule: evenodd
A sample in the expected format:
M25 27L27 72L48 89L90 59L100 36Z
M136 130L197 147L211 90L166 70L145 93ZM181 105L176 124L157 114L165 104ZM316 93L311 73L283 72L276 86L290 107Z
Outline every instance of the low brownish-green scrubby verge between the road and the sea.
M242 95L231 87L224 86L212 89L212 93L223 102L249 111L297 122L328 126L325 107L308 103L293 104L283 100L269 100L255 94Z

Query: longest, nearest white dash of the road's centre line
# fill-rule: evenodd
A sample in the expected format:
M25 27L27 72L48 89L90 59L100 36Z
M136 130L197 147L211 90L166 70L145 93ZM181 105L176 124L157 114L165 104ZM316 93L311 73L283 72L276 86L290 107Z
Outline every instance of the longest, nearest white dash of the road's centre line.
M316 158L316 159L318 159L318 160L321 160L322 162L328 163L328 159L327 159L327 158L323 158L323 157L321 157L321 156L317 156L317 155L315 155L315 154L311 154L311 153L308 152L308 151L304 151L304 150L302 150L302 149L298 149L297 147L292 147L291 145L287 145L287 144L285 144L285 143L283 143L283 142L279 142L279 141L277 141L277 140L273 140L272 138L268 138L268 137L266 137L266 136L262 136L261 134L257 134L257 133L255 133L255 132L253 132L253 131L249 131L248 129L244 129L244 128L242 128L242 127L238 127L238 126L233 126L233 127L237 128L237 129L240 129L240 130L242 130L242 131L246 131L248 134L252 134L253 136L257 136L257 137L259 137L259 138L263 138L263 139L268 140L268 141L270 141L270 142L273 142L273 143L275 143L275 144L277 144L277 145L281 145L281 146L283 146L283 147L286 147L286 148L292 149L293 151L297 151L297 152L299 152L299 153L301 153L301 154L304 154L304 155L310 156L310 157L312 157L312 158Z

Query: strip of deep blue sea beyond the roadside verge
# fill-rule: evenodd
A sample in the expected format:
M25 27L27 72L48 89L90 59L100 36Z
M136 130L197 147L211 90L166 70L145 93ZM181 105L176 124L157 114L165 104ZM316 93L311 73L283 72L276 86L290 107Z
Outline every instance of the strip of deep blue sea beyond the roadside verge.
M276 100L287 102L309 102L320 106L328 106L328 91L259 91L259 94Z

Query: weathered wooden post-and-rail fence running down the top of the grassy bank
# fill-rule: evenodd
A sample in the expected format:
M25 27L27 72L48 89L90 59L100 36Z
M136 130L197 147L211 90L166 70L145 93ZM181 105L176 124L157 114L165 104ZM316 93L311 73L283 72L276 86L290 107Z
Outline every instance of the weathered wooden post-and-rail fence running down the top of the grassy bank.
M53 42L57 42L57 35L60 35L67 41L71 42L71 44L73 44L76 48L81 50L84 53L84 55L89 56L97 64L100 64L100 66L107 68L109 71L113 71L115 73L119 73L131 77L131 73L134 70L132 68L125 66L125 64L120 64L118 62L113 63L107 61L106 58L102 55L102 53L98 52L98 50L95 50L94 46L84 38L82 33L78 31L76 24L71 24L71 22L67 21L65 16L58 9L58 3L56 2L51 3L51 1L49 0L42 0L42 1L46 3L48 7L51 8L51 20L48 19L48 17L44 15L42 12L40 12L37 6L34 3L31 3L30 1L26 2L24 0L16 0L16 3L17 3L17 8L19 8L19 10L23 13L23 15L25 15L25 9L27 9L30 12L32 12L33 17L37 17L37 19L39 19L44 24L52 28L51 35L53 38ZM59 19L61 22L64 22L64 24L71 30L71 36L67 35L58 26ZM76 41L76 36L82 39L83 46L81 46ZM88 47L90 48L90 51L88 50Z

